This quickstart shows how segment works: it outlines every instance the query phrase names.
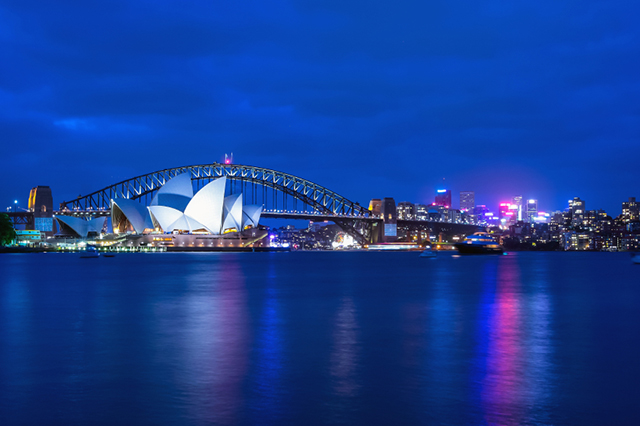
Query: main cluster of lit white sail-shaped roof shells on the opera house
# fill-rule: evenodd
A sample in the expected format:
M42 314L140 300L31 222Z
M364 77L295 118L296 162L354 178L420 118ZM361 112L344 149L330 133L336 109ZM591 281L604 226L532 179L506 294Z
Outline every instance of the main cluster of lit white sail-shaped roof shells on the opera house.
M187 231L223 234L258 226L261 206L243 206L242 194L225 197L227 178L221 177L193 193L190 173L180 174L167 181L153 197L142 220L141 204L134 200L113 200L113 213L121 212L136 233L151 227L163 232ZM135 207L137 204L138 207ZM129 217L131 215L131 217ZM115 224L116 222L114 222ZM115 229L114 225L114 229Z

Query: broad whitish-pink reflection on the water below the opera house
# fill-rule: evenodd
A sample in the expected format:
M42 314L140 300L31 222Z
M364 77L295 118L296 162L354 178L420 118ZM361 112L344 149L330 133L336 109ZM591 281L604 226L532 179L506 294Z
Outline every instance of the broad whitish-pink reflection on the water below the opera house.
M236 424L248 365L244 276L233 259L191 274L185 305L183 360L177 374L190 415L198 421Z

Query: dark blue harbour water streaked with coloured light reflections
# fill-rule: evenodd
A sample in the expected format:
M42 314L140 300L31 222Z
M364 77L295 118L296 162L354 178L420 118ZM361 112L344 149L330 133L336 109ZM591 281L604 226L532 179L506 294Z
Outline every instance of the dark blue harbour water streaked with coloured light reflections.
M0 256L2 425L640 424L624 253Z

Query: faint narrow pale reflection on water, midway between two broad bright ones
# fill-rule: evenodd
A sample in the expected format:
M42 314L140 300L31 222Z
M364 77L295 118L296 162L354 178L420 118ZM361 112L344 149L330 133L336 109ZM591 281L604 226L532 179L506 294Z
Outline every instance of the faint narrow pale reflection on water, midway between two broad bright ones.
M329 360L329 374L338 396L355 396L360 385L356 378L358 359L358 324L353 298L340 301L333 332L333 350Z

